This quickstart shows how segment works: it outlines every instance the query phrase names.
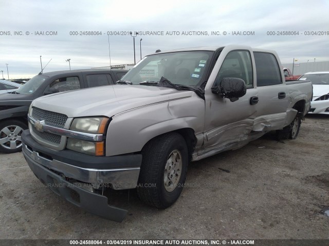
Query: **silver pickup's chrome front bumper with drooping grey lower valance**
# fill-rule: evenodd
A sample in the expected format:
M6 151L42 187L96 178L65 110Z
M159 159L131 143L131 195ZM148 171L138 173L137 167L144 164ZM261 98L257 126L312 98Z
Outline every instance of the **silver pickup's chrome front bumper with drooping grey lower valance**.
M133 167L117 169L81 168L53 159L49 152L40 152L39 150L42 148L32 139L28 130L23 132L22 141L23 155L30 169L51 191L89 213L117 222L123 220L127 213L126 210L107 204L106 196L90 192L68 180L75 179L78 182L101 186L110 183L111 188L115 190L135 188L139 176L141 156L136 155L135 158L139 167L133 163ZM95 158L97 157L95 156Z

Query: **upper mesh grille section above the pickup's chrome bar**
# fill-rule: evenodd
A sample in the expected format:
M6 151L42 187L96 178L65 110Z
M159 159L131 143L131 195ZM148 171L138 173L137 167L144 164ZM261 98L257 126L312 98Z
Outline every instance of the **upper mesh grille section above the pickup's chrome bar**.
M47 125L58 128L64 128L68 118L65 114L51 112L35 107L32 110L32 117L36 120L44 120Z

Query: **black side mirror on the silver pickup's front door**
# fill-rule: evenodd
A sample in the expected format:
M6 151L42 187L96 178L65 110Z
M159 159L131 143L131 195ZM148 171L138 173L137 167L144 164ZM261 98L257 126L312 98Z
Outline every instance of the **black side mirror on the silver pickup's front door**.
M211 92L228 98L230 101L236 101L246 94L247 88L245 81L241 78L223 78L218 86L211 88Z

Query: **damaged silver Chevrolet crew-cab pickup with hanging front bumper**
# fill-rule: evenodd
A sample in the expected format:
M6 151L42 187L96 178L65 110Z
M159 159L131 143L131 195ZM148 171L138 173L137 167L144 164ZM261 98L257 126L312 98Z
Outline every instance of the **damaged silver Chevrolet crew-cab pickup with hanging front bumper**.
M133 189L165 209L188 163L277 130L297 137L310 107L308 80L286 84L276 52L190 48L144 57L117 85L35 99L22 134L33 173L76 206L121 221L104 189Z

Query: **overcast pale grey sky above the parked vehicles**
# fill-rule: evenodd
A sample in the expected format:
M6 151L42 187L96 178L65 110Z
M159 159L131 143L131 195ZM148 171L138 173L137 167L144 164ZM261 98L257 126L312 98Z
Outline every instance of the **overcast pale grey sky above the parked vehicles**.
M157 49L242 44L276 50L282 63L292 63L293 58L299 63L329 60L327 0L0 0L0 9L0 71L8 78L8 64L11 79L38 74L40 55L43 67L51 59L44 72L68 70L68 58L71 69L109 66L108 37L111 64L132 64L130 31L143 32L135 38L136 62L141 38L142 56ZM102 35L86 35L88 31ZM299 35L280 35L285 31Z

